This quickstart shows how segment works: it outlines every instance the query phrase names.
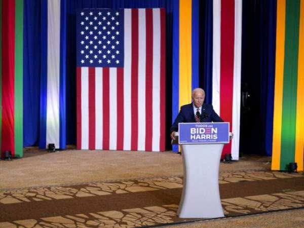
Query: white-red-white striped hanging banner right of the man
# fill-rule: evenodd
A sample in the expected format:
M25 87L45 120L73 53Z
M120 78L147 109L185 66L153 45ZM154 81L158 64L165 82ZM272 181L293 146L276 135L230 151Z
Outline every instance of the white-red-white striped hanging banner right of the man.
M220 117L230 122L234 138L224 154L239 159L241 98L242 1L213 1L212 104Z

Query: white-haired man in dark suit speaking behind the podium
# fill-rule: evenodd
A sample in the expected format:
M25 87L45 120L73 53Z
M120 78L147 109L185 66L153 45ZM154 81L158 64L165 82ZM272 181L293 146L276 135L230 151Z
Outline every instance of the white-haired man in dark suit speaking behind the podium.
M205 91L196 88L192 92L193 102L180 107L180 111L170 128L171 138L174 140L174 133L178 131L178 123L206 123L223 122L213 110L211 104L204 104Z

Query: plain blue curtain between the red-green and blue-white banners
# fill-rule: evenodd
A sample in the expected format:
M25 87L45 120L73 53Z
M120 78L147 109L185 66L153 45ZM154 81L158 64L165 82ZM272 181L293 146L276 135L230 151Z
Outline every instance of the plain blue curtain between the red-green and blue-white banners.
M24 2L23 145L36 145L40 120L40 8L41 1Z

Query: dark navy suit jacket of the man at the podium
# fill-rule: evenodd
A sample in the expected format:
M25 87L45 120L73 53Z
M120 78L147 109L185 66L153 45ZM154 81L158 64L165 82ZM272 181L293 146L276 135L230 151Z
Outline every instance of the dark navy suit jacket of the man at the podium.
M223 122L223 120L216 114L211 104L203 104L201 122ZM178 131L178 123L195 123L193 103L186 104L180 107L178 116L176 117L173 125L170 128L170 132Z

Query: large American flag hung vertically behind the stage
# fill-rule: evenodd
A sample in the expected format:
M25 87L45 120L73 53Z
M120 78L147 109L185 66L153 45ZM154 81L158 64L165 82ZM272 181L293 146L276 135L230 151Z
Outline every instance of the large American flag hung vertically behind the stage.
M165 10L77 15L77 147L165 150Z

